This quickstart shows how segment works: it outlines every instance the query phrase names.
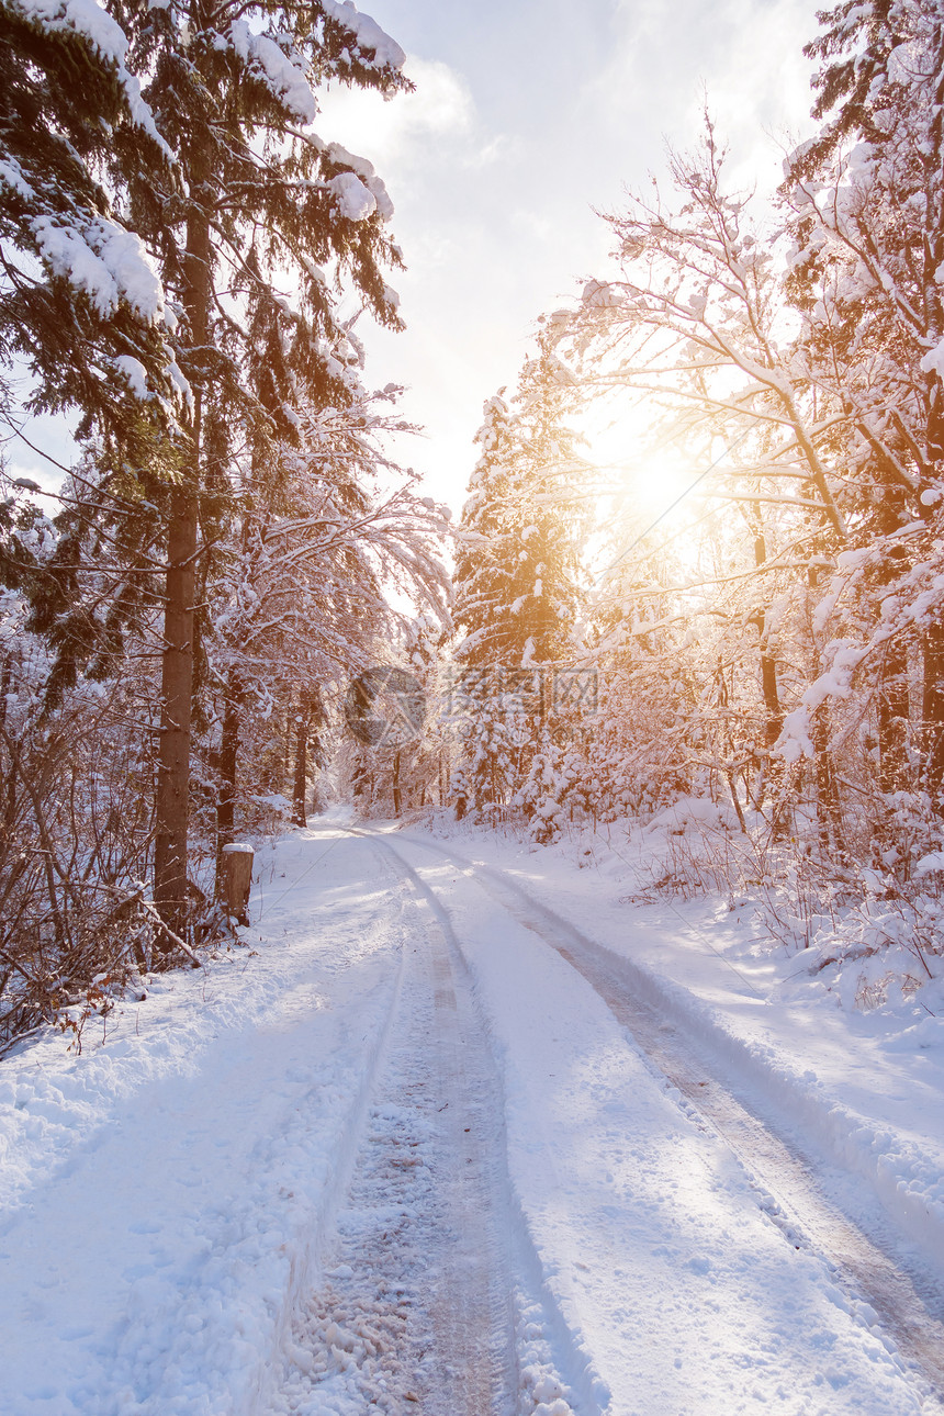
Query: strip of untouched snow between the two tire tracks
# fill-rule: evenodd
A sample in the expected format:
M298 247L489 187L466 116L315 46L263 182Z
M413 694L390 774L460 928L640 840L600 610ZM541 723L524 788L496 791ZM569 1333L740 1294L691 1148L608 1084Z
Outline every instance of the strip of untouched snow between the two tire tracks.
M784 1240L726 1147L679 1110L590 986L449 862L423 878L447 891L478 980L512 1181L600 1408L920 1410L894 1354L849 1321L822 1260Z

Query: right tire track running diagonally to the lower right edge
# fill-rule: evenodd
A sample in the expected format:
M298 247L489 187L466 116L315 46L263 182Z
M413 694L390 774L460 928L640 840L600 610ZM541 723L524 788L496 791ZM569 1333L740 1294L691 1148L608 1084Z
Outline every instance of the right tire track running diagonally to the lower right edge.
M933 1403L944 1412L940 1293L927 1291L921 1276L909 1273L828 1199L815 1178L815 1163L795 1141L754 1114L712 1075L691 1039L638 998L633 964L587 939L504 874L432 843L413 837L405 841L449 861L586 978L650 1066L679 1093L686 1113L715 1130L733 1151L757 1191L760 1208L784 1238L795 1247L811 1247L825 1260L851 1311L877 1334L890 1335L902 1358L928 1383L928 1409ZM434 891L429 881L423 884ZM927 1301L919 1287L927 1291Z

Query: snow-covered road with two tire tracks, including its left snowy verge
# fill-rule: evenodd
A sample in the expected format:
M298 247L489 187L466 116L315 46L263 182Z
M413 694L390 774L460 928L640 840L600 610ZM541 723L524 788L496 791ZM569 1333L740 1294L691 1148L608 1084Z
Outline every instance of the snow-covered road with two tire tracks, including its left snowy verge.
M592 892L575 923L326 823L256 909L255 954L0 1066L0 1410L944 1409L937 1256L853 1222L865 1181L660 1011Z

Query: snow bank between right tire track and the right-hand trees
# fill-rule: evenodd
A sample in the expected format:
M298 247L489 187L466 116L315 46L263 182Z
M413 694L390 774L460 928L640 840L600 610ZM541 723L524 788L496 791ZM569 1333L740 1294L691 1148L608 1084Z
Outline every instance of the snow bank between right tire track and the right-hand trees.
M640 997L701 1038L756 1104L866 1180L944 1274L944 978L855 1008L835 973L811 973L802 950L773 946L746 905L710 895L641 903L665 844L648 834L630 844L618 830L575 833L549 848L474 827L456 838L442 824L403 837L500 867L624 960Z

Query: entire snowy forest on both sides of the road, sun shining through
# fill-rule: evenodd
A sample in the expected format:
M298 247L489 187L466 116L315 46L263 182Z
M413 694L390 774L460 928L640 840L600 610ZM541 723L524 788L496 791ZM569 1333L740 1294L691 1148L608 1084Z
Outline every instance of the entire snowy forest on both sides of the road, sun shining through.
M821 14L773 200L709 106L600 218L454 517L369 375L391 198L313 126L396 103L399 45L338 0L0 16L3 438L74 429L55 494L0 489L0 1044L204 957L224 848L338 799L535 848L672 809L654 891L930 978L940 4Z

